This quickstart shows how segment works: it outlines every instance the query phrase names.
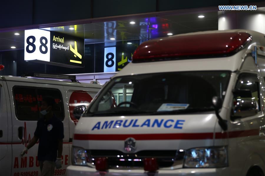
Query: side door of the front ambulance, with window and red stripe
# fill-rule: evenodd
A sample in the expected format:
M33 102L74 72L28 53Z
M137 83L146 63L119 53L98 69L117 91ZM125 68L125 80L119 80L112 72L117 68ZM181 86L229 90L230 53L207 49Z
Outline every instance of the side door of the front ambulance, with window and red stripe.
M265 138L259 134L260 126L264 124L261 95L259 74L254 71L241 72L234 88L229 131L231 151L228 151L231 169L241 175L245 175L253 165L264 165Z

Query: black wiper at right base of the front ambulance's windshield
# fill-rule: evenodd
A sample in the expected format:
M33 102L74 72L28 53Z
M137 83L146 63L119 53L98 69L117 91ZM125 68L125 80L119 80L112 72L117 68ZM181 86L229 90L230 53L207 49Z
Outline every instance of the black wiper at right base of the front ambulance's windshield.
M172 111L159 111L150 113L150 115L159 115L159 114L184 114L184 113L197 113L204 111L213 111L214 108L187 108L187 109L178 109Z

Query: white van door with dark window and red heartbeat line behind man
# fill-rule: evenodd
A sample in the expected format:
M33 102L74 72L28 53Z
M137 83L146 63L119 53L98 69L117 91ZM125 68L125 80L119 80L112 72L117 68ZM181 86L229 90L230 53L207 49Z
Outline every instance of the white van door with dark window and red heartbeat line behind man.
M64 123L62 168L54 172L54 175L64 175L68 165L65 165L65 160L68 159L69 155L69 145L67 143L69 139L69 120L64 116L67 111L64 108L66 98L62 96L63 87L60 85L15 81L9 81L8 87L13 124L11 176L40 175L37 158L39 142L30 148L23 158L20 158L19 155L34 137L37 121L41 117L42 98L47 95L54 97L56 105L53 112Z

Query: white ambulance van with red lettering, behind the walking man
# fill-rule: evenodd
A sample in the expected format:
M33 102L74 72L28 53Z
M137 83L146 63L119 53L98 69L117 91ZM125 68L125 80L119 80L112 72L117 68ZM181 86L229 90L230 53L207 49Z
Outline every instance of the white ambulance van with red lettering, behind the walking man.
M1 72L0 72L1 73ZM70 164L72 136L78 116L92 97L102 87L98 84L76 82L75 76L39 74L41 78L71 79L55 81L13 76L0 76L0 175L1 176L38 176L38 143L20 158L21 151L34 136L39 119L42 97L54 97L56 107L54 114L64 124L62 168L56 169L54 175L66 175Z

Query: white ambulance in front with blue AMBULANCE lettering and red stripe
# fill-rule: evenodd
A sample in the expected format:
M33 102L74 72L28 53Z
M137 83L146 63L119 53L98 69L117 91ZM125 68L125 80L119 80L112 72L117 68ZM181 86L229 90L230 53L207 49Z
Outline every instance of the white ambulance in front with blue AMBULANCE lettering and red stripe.
M74 130L67 175L265 173L265 36L146 41Z

